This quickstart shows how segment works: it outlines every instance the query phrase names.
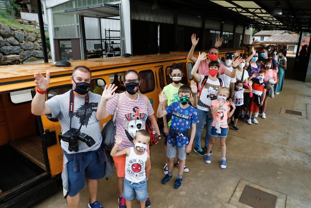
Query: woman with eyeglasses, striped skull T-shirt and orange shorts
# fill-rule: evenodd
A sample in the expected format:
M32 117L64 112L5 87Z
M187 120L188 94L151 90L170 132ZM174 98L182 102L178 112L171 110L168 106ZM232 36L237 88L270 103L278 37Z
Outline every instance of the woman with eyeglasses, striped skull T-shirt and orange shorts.
M122 138L122 143L118 147L118 150L127 147L134 147L133 139L135 138L138 130L146 129L146 119L149 119L154 124L158 135L160 135L160 130L149 99L138 93L140 79L137 71L127 70L124 74L123 80L126 89L123 93L112 94L110 91L114 89L114 85L110 84L108 89L105 87L101 98L102 100L96 113L97 119L101 120L110 115L114 115L116 112L116 133L118 133ZM121 100L119 100L120 105L117 109L119 97ZM146 151L149 153L149 145L147 146ZM125 156L126 155L113 157L118 176L118 187L120 191L118 201L120 208L126 207L125 198L123 197ZM145 206L151 206L148 198L146 199Z

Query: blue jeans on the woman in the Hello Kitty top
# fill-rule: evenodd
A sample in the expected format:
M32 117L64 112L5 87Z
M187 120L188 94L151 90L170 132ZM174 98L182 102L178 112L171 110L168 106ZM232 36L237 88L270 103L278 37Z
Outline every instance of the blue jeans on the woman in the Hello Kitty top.
M194 136L195 148L201 147L201 134L204 128L204 123L206 121L206 133L205 133L205 146L207 147L208 141L211 135L211 123L212 119L207 119L207 111L200 110L197 108L197 117L199 118L199 123L197 123L197 129Z

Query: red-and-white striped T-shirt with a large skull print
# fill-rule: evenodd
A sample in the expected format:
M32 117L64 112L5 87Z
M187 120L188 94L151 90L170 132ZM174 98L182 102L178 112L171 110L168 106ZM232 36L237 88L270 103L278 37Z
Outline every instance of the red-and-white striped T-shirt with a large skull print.
M110 115L114 114L117 107L118 95L119 94L115 94L112 99L107 101L106 109ZM134 144L132 143L132 140L135 138L136 132L140 129L146 129L146 119L148 116L154 114L149 99L146 106L142 94L138 93L137 100L129 99L124 93L120 95L122 95L122 101L115 119L116 133L119 133L122 138L122 143L118 150L133 147Z

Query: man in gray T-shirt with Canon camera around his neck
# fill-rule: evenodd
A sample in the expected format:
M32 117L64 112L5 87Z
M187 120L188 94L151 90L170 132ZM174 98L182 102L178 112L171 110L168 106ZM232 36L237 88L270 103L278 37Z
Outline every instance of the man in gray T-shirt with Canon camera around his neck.
M80 132L92 137L95 143L88 147L86 143L78 140L79 150L75 152L75 149L68 150L68 142L61 141L64 153L62 172L64 196L67 199L68 207L77 207L80 198L79 192L85 186L86 175L87 187L90 193L88 207L102 207L96 201L98 179L103 178L105 175L105 157L101 146L100 122L96 119L96 111L101 96L89 92L91 71L87 67L75 67L72 71L71 81L72 90L45 101L45 94L50 83L50 73L47 71L46 77L44 77L38 72L35 75L37 93L31 103L31 112L37 116L46 115L48 118L58 118L64 134L70 128L68 109L70 95L72 94L71 127L79 129L81 126ZM116 87L105 91L112 96L115 89Z

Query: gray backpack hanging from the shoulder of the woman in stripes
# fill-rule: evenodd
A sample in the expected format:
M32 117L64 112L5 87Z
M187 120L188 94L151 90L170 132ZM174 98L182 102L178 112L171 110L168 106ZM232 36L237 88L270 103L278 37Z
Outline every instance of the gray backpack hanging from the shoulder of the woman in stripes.
M117 107L114 111L114 117L106 123L106 125L104 126L101 132L101 135L103 137L104 147L107 150L110 150L114 146L114 136L116 134L115 117L116 117L118 108L120 107L120 104L122 101L122 95L123 95L122 93L118 94L118 102L117 102Z

